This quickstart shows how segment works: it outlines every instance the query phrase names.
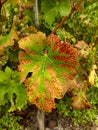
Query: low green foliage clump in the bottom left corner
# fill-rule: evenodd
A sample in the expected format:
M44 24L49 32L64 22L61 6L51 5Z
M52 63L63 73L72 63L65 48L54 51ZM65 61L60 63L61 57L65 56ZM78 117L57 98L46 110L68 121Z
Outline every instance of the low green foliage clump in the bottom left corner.
M14 116L11 113L3 114L0 117L0 130L23 130L23 127L19 124L19 116Z

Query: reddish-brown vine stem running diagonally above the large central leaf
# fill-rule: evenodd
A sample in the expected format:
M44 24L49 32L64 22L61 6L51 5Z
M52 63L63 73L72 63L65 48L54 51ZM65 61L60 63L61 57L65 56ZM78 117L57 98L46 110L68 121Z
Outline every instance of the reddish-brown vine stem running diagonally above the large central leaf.
M79 2L77 2L77 4L72 7L71 12L69 13L68 16L66 16L65 18L63 18L61 20L61 22L56 26L56 28L51 32L51 34L56 33L56 31L69 19L69 17L80 7L80 5L82 4L83 0L79 0Z

